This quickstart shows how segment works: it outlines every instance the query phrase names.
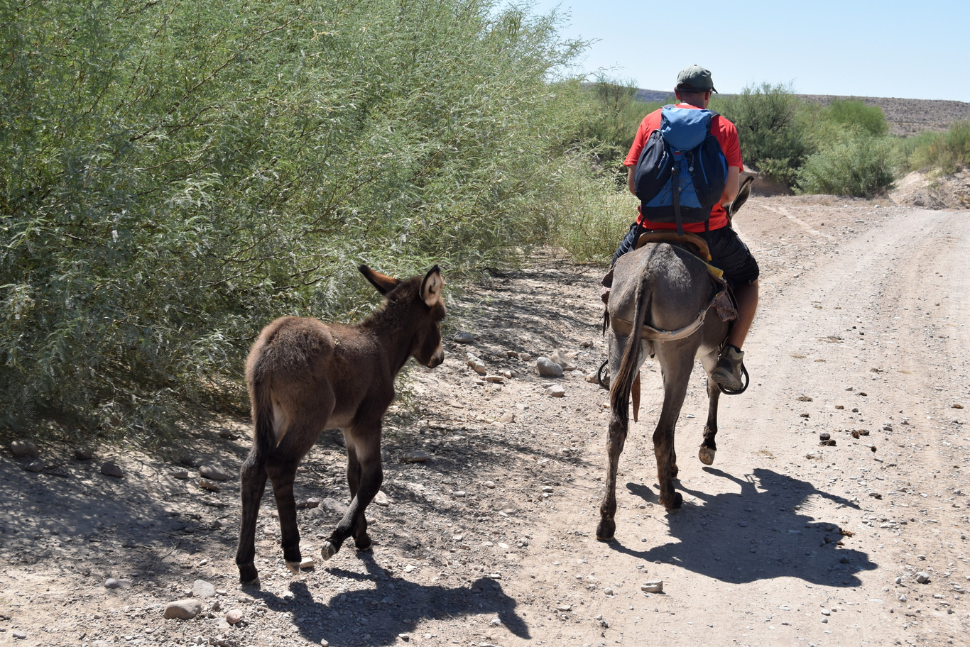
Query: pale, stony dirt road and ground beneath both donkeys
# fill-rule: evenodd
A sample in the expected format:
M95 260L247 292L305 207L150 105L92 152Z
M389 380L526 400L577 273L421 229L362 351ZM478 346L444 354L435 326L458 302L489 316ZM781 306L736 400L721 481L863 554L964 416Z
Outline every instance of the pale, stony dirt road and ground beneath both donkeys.
M390 501L369 508L372 553L344 548L290 575L268 495L262 588L236 583L248 440L217 432L244 434L242 421L185 448L184 463L232 475L218 492L134 452L102 447L84 462L45 446L40 474L5 452L0 644L970 644L967 213L753 199L737 228L761 264L753 384L722 398L704 467L695 369L677 435L681 510L657 505L661 387L648 362L617 539L595 539L606 392L584 376L605 348L599 270L547 259L452 304L474 341L410 374L387 420ZM539 378L536 357L556 349L578 370ZM469 352L513 377L482 380ZM555 384L564 397L546 395ZM431 458L402 463L410 450ZM99 473L107 459L124 478ZM346 503L342 466L327 432L297 482L298 500L324 500L300 513L305 555L318 557ZM217 590L203 614L163 620L197 579ZM641 590L651 580L663 593Z

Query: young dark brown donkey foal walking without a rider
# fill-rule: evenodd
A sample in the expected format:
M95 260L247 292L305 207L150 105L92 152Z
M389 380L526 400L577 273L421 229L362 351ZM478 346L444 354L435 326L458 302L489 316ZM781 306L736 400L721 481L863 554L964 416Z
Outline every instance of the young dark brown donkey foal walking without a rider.
M297 466L324 429L339 428L347 447L350 507L321 555L333 557L344 539L368 550L364 510L380 489L381 418L394 400L394 377L408 358L429 368L444 360L441 320L444 280L437 265L424 278L399 281L359 267L383 305L355 325L282 317L260 333L245 364L253 444L242 463L242 524L236 566L243 584L258 584L253 564L256 518L266 479L273 483L286 566L300 570L293 481Z

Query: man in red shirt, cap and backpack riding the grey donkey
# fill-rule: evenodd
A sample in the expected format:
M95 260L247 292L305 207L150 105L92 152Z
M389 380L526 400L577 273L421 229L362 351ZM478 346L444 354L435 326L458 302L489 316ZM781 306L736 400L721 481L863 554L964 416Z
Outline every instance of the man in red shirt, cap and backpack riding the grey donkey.
M730 328L711 379L724 392L739 393L746 386L742 385L744 353L741 347L758 309L759 276L758 262L731 229L726 208L738 195L740 173L744 168L741 147L734 124L707 110L711 93L717 92L710 71L696 65L684 68L677 75L674 92L678 101L676 106L659 108L643 118L624 161L624 166L629 169L627 184L630 193L640 198L641 203L639 216L613 255L612 264L635 249L637 239L644 232L676 230L682 236L685 232L689 236L703 236L712 262L723 270L737 304L737 319ZM694 125L695 133L698 128L703 129L699 137L705 140L704 143L693 145L696 138L691 139L690 124ZM708 124L709 135L713 138L707 137ZM685 144L684 150L677 150L676 140L684 139L685 132L688 132L690 143ZM691 148L687 149L687 146ZM677 164L675 158L678 155L685 158L683 166ZM701 169L704 164L707 168ZM669 178L664 187L659 184L651 186L657 184L658 175L663 174L658 171L663 170L664 165L667 175L671 173L670 167L673 168L674 190L670 188ZM721 182L724 188L719 191ZM708 183L711 184L706 190L712 197L706 201L713 202L709 211L703 200L705 187L702 186ZM613 283L612 264L603 278L603 302L608 300Z

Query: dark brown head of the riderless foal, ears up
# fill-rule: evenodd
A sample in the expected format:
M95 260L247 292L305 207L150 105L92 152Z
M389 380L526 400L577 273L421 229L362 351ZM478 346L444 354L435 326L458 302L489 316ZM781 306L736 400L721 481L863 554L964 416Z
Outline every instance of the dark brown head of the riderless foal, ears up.
M428 368L435 368L444 361L444 349L441 347L441 320L444 319L444 302L441 300L441 268L435 265L424 279L419 282L418 277L408 281L398 279L373 271L367 265L361 265L361 274L371 282L377 292L384 294L388 300L407 302L409 307L406 317L396 318L398 332L406 328L411 331L410 355ZM401 294L397 290L401 287ZM391 293L394 293L393 295Z

